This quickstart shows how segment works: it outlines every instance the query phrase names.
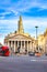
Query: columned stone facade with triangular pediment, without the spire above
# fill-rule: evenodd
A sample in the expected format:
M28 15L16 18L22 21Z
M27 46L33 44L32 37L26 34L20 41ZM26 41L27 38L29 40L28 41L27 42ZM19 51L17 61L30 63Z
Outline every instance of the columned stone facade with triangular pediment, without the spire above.
M12 38L4 40L4 43L12 48L13 52L16 52L17 48L20 47L20 52L25 52L25 50L27 50L28 53L30 51L34 51L32 41L33 39L30 37L15 34Z

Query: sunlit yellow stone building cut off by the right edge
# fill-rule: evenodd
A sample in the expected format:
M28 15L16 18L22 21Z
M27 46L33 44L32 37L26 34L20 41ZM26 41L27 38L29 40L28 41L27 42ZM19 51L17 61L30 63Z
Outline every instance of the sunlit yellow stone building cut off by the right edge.
M38 47L40 47L43 53L47 53L47 29L44 34L38 37Z

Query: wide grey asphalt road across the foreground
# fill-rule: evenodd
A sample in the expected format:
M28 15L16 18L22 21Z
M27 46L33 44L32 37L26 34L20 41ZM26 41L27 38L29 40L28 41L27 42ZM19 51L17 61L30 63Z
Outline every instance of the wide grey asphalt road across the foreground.
M47 72L47 56L0 56L0 72Z

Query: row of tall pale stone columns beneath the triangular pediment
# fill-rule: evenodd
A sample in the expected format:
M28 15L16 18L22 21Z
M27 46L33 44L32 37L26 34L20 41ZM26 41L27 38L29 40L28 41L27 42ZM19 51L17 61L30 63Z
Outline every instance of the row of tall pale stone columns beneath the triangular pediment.
M32 41L28 40L8 41L7 45L12 48L13 52L16 52L17 48L20 47L20 52L27 51L27 53L32 51L32 47L33 47Z

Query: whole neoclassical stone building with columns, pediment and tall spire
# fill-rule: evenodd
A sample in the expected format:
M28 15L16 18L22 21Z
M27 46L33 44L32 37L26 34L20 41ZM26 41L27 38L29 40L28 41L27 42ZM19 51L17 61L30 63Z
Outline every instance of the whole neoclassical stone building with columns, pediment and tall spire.
M35 40L32 38L28 33L24 32L23 23L22 23L22 17L20 17L19 23L17 23L17 30L14 33L10 33L4 38L4 43L10 48L12 48L13 52L17 51L17 48L20 47L20 52L23 53L27 51L35 50Z

